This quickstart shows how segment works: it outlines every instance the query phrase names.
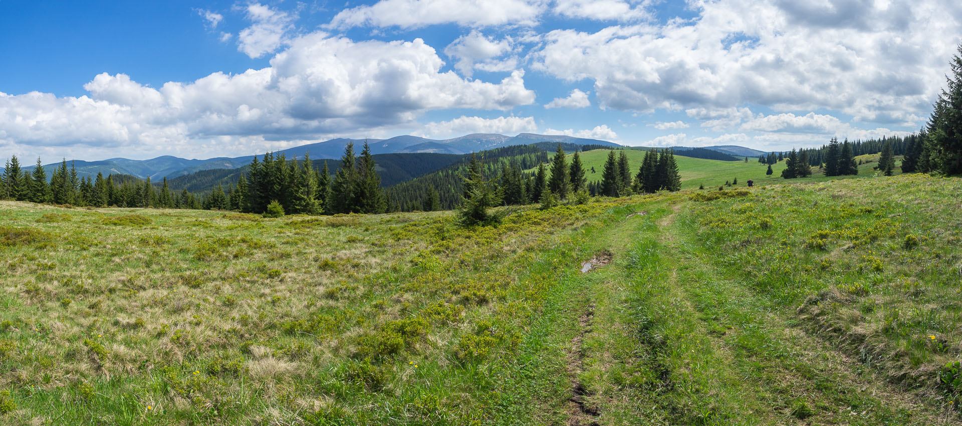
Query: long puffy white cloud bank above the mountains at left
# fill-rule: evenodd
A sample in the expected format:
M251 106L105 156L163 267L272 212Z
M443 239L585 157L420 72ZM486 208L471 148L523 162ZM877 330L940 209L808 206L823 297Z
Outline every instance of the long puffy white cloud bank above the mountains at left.
M354 41L315 33L288 41L270 66L216 72L161 88L124 74L97 75L89 96L0 94L0 139L42 145L188 147L231 137L305 139L411 124L445 109L531 104L523 71L497 83L442 71L434 48L413 41Z

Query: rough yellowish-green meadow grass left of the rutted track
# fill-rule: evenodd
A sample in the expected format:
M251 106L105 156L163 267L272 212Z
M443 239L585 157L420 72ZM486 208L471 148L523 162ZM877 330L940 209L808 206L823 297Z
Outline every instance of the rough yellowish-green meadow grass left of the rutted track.
M514 360L541 363L529 333L558 266L574 262L562 259L574 250L566 230L624 202L473 229L449 213L263 219L0 203L0 388L15 405L5 418L539 422L519 404L550 389L565 398L567 383L549 370L528 377L540 387L519 383Z

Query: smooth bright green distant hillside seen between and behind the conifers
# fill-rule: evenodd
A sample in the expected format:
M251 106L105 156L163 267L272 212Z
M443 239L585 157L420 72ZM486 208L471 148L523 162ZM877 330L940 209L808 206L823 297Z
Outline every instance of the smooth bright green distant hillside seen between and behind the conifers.
M585 172L585 178L587 178L589 182L601 180L601 171L604 170L604 163L608 160L608 151L607 149L595 149L594 151L579 154L581 156L581 162L584 163L585 170L587 170ZM620 152L621 151L617 151L617 153ZM645 159L645 151L626 149L623 150L623 152L628 156L628 163L631 165L632 175L638 173L638 168L642 165L642 160ZM813 168L812 177L790 180L782 179L781 177L781 171L785 168L784 161L772 164L772 176L767 176L765 172L768 170L768 164L758 163L758 158L749 158L748 163L695 159L679 155L675 155L674 159L678 164L678 173L681 175L682 189L694 189L702 185L706 189L718 189L718 187L724 186L725 182L731 182L735 179L738 179L739 187L746 187L748 179L751 179L755 185L764 186L784 183L824 182L853 177L870 177L873 176L876 171L873 170L873 167L877 165L878 154L856 157L856 161L872 162L859 165L859 174L856 176L826 177L824 174L821 174L818 168ZM570 161L571 155L569 154L568 162L570 163ZM550 163L545 164L548 170L550 170L550 166ZM592 167L595 167L595 173L592 173ZM533 172L536 171L536 169L537 168L532 168L526 171ZM896 173L899 174L900 172L899 164L897 164Z

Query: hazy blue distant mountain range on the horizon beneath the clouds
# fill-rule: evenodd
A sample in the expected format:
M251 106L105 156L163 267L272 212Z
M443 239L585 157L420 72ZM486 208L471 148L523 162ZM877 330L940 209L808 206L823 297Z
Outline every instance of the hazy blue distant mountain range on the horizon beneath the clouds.
M395 154L395 153L436 153L436 154L468 154L471 152L483 151L486 149L499 148L511 145L529 145L538 142L562 142L576 145L604 145L621 146L618 143L606 140L589 138L572 138L557 135L534 135L522 133L516 137L508 137L497 134L473 134L460 138L450 139L429 139L414 136L400 136L389 139L348 139L334 138L323 142L309 143L307 145L295 146L285 150L277 151L283 153L289 159L293 157L304 158L307 153L315 160L321 159L340 159L344 152L344 147L348 142L353 141L355 150L360 153L365 140L370 145L371 154ZM258 153L258 156L263 153ZM207 160L188 160L173 156L163 156L150 160L128 160L128 159L108 159L99 162L72 161L77 167L77 174L81 177L96 176L97 173L124 174L136 176L140 179L150 178L158 181L163 178L172 179L178 176L185 176L202 170L213 169L234 169L246 165L255 156L244 157L218 157ZM68 161L71 163L71 161ZM59 163L45 164L44 167L53 167ZM34 166L24 167L32 169ZM48 173L49 175L49 173Z

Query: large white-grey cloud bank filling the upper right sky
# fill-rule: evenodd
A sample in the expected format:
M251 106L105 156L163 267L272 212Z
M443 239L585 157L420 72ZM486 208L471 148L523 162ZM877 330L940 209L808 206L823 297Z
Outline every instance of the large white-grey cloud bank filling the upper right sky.
M962 31L949 0L692 1L689 21L554 30L533 53L556 78L593 81L602 108L639 112L825 108L861 121L923 119ZM924 30L923 30L924 29Z

